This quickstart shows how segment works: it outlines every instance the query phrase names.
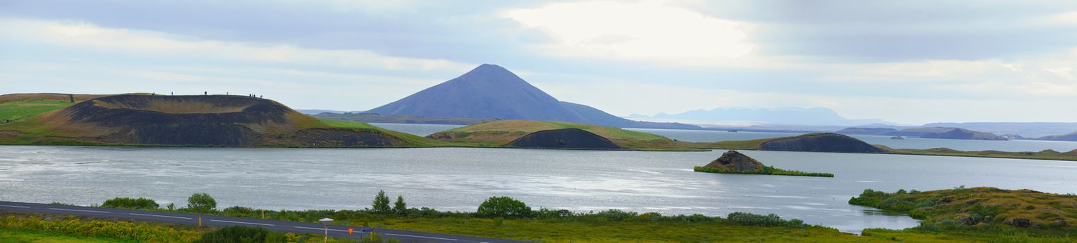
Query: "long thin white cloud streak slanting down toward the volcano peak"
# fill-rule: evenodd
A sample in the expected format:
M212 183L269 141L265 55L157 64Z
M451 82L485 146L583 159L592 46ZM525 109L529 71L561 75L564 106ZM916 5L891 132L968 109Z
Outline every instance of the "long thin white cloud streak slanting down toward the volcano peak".
M164 32L111 29L80 22L2 18L0 35L60 46L170 57L319 65L382 70L466 71L475 65L379 55L366 49L317 49L284 44L201 40Z

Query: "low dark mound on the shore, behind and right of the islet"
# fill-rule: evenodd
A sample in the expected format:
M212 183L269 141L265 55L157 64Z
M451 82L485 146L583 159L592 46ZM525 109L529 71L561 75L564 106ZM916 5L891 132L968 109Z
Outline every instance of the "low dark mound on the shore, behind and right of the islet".
M759 144L764 151L884 153L882 148L838 133L811 133L787 139L774 139Z

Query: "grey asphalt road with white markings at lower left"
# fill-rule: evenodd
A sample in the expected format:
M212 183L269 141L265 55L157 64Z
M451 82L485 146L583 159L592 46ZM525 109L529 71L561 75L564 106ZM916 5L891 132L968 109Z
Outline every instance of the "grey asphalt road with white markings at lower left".
M108 217L108 218L124 218L124 219L141 220L141 221L185 224L185 225L198 225L198 219L200 217L202 225L207 226L250 226L250 227L267 228L279 232L296 232L296 233L322 234L325 232L325 228L321 224L282 221L272 219L246 218L246 217L165 213L165 212L154 212L154 211L54 205L54 204L26 203L26 202L0 201L0 211L31 212L31 213L45 213L45 214L71 214L71 215ZM353 234L350 235L348 234L349 227L353 228ZM356 240L362 239L362 237L364 235L369 235L370 230L374 230L374 232L382 234L384 238L396 239L400 240L401 242L453 242L453 243L520 242L520 241L510 241L510 240L501 240L491 238L453 235L445 233L428 233L428 232L416 232L416 231L394 230L394 229L362 228L353 226L330 225L328 227L330 237L334 238L351 237Z

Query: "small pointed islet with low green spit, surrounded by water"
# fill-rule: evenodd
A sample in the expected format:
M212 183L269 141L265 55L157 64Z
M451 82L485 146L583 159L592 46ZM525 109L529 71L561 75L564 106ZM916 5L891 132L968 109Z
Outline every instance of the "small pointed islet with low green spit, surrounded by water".
M771 175L793 175L793 176L817 176L834 177L831 173L812 173L803 171L782 170L764 166L763 162L747 157L737 151L728 151L722 157L711 161L707 166L696 167L697 172L726 173L726 174L771 174Z

